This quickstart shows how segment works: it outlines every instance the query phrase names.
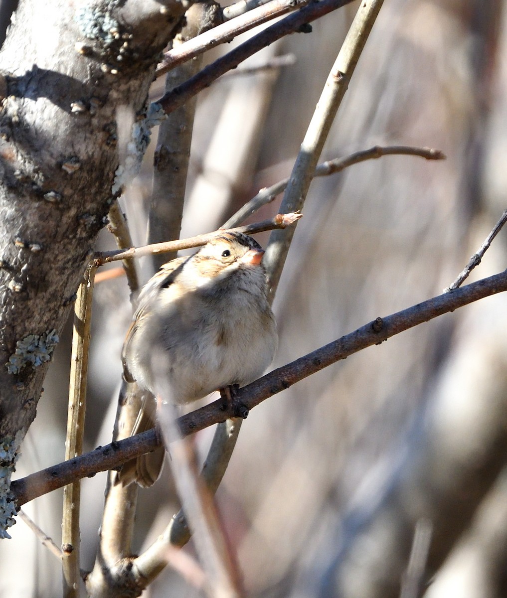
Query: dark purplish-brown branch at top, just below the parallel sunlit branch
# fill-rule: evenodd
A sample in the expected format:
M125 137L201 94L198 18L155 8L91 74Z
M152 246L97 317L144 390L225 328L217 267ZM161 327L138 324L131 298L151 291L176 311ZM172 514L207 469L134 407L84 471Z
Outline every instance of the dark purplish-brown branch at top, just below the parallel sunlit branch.
M352 0L320 0L320 2L314 2L301 8L297 13L291 14L285 17L285 19L269 26L261 33L252 36L248 41L243 42L243 44L225 54L225 56L215 60L215 62L206 66L197 75L191 77L186 83L176 87L170 93L164 94L158 100L158 103L169 114L169 112L187 102L190 97L195 96L199 91L210 86L215 79L221 77L225 72L236 68L240 62L243 62L243 60L246 60L252 54L262 50L262 48L272 44L277 39L289 35L289 33L306 30L303 26L307 23L319 19L319 17L323 17L350 2ZM212 29L212 32L215 32L215 29Z

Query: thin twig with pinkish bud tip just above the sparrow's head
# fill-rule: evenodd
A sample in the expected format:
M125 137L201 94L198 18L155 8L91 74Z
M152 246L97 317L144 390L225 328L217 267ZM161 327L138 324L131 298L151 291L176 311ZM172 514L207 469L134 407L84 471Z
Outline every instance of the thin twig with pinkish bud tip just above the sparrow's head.
M297 222L303 215L302 214L277 214L270 220L264 220L257 222L256 224L248 224L246 226L231 228L232 232L244 233L244 234L255 234L262 233L265 230L273 230L273 228L285 228ZM181 249L191 249L193 247L200 247L206 245L206 243L216 237L218 234L224 233L225 230L216 230L212 233L199 234L196 237L190 237L189 239L179 239L176 241L167 241L165 243L153 243L152 245L145 245L143 247L131 247L124 251L102 251L97 252L94 255L95 266L102 266L112 261L125 260L126 258L142 258L145 255L152 254L166 254L171 251L180 251Z

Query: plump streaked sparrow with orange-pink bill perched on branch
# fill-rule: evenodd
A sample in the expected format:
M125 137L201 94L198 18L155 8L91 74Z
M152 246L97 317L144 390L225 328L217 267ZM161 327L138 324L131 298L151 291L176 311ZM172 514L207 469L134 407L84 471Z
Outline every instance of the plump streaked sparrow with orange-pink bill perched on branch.
M219 233L146 283L121 352L124 379L148 392L132 435L154 427L154 397L162 388L181 405L215 390L230 397L231 388L264 373L277 332L263 254L252 237ZM155 453L126 463L118 481L151 486L164 457L163 450Z

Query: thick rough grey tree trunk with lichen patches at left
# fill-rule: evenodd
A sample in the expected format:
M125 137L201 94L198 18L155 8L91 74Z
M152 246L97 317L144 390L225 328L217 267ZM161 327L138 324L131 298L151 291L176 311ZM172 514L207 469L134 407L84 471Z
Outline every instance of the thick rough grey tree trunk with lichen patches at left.
M148 88L183 12L174 0L20 2L0 53L4 446L35 417L55 335L118 193L117 109L135 115L142 152Z

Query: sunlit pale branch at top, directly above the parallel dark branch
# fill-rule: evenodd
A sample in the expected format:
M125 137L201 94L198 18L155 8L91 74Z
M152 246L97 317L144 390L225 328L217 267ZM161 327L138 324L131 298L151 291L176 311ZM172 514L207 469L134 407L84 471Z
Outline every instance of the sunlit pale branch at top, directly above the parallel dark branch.
M201 33L193 39L189 39L184 44L167 51L163 60L157 66L155 77L160 77L170 69L191 60L198 54L202 54L216 45L232 41L237 35L262 25L271 19L286 14L289 11L297 10L308 4L309 0L271 0L267 4L258 6L246 14L237 16L222 25L218 25L209 31ZM274 41L274 40L273 40Z

